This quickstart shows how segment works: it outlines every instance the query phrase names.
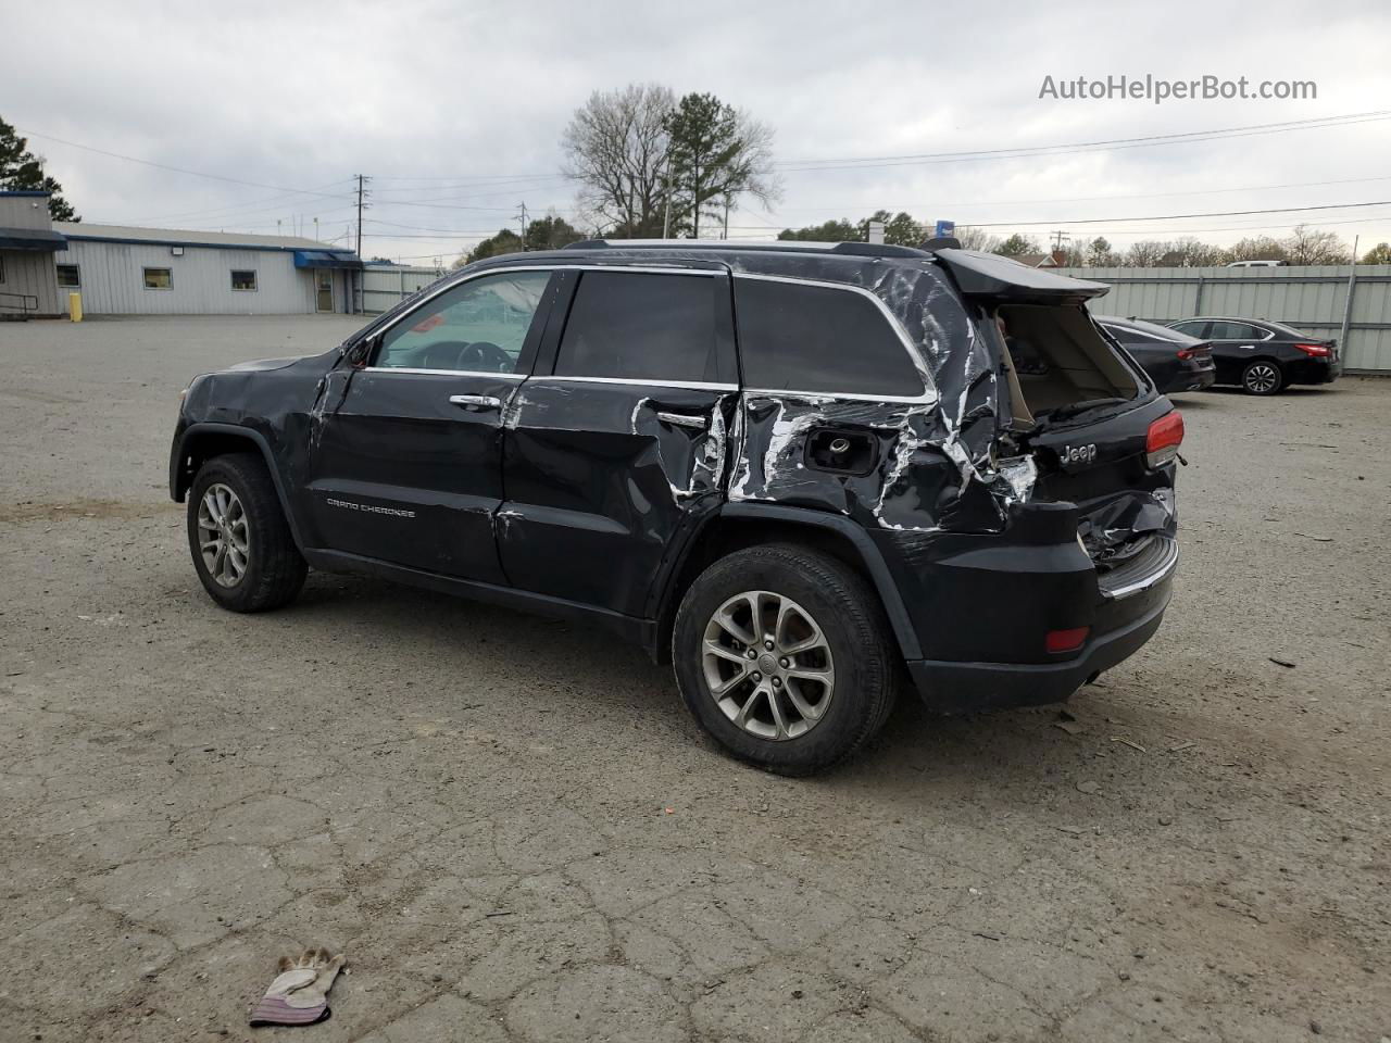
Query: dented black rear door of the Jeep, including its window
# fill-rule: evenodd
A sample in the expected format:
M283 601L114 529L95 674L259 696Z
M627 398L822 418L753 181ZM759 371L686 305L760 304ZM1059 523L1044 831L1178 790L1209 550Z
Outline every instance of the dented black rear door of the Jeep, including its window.
M644 616L723 502L737 399L723 266L566 273L570 306L505 419L498 547L522 590Z

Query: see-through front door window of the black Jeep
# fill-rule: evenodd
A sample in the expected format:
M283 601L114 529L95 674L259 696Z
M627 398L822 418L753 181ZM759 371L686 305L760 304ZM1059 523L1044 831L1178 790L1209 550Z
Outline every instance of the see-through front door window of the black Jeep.
M483 275L445 291L387 330L373 366L516 373L548 271Z

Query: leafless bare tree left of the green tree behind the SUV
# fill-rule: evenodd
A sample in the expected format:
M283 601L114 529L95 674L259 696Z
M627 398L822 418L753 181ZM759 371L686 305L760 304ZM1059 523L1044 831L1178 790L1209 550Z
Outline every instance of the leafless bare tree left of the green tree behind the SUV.
M595 90L570 117L561 138L562 171L580 182L588 223L625 238L662 234L666 117L675 106L670 88L629 83Z

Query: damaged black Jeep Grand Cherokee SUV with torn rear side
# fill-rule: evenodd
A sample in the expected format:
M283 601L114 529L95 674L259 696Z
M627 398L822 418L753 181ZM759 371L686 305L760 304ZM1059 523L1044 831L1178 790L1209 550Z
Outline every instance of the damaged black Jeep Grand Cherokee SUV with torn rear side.
M732 754L808 773L904 683L1066 700L1159 629L1182 420L1085 302L936 241L590 241L198 377L170 460L238 612L307 566L586 619Z

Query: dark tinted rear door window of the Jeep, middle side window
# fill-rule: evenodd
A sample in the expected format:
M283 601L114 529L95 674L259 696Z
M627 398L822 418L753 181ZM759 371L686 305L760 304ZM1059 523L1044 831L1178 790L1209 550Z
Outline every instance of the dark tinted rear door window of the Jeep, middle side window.
M708 275L586 271L555 374L718 382L715 286Z

